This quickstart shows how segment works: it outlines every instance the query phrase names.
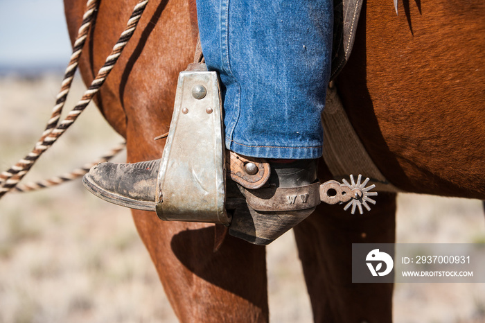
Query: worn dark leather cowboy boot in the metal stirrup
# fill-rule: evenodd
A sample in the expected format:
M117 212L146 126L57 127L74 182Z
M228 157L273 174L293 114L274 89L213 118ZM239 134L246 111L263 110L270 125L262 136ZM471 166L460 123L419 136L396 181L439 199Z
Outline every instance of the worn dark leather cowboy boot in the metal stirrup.
M159 168L160 159L103 163L91 168L82 181L103 200L157 211ZM231 216L229 234L258 245L271 243L315 210L319 195L309 187L318 187L316 180L317 159L265 163L228 152L225 209Z

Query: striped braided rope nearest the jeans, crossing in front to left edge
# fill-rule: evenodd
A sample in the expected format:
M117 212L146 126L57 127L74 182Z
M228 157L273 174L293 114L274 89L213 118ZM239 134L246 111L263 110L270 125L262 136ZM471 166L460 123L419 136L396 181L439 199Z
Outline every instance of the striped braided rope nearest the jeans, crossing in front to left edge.
M147 4L148 0L141 0L136 4L130 19L128 19L125 30L123 30L123 33L121 33L118 41L113 46L112 53L106 58L105 64L103 64L103 67L98 71L98 75L96 75L96 78L91 82L91 85L85 91L85 94L82 96L76 107L74 107L66 116L66 119L56 125L55 128L48 130L48 134L41 137L41 140L35 144L34 149L24 157L24 159L20 159L17 164L12 166L8 171L0 174L0 184L3 183L0 187L0 198L17 186L26 173L30 171L30 168L35 164L35 161L37 161L37 159L39 159L39 157L50 148L62 134L64 134L73 122L78 119L78 116L85 110L93 96L98 93L98 90L105 82L109 72L112 71L114 64L118 61L127 42L132 37L136 25L138 24L141 14L145 10Z

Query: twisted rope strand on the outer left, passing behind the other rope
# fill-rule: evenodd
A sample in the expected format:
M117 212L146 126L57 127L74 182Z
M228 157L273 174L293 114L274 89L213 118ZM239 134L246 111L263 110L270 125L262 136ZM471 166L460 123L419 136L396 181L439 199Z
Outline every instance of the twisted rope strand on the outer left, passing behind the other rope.
M51 117L47 122L45 130L44 132L42 132L42 137L40 137L37 143L35 143L35 146L41 144L42 141L44 141L44 139L48 136L48 134L51 133L53 128L58 125L60 114L62 113L62 108L64 107L64 103L66 102L67 94L69 94L69 89L71 89L74 73L76 73L76 69L78 69L78 62L82 53L82 47L86 42L87 33L89 32L89 28L91 27L91 23L94 18L94 10L98 8L98 2L98 0L88 0L86 3L86 10L84 15L82 16L82 23L78 29L76 41L74 42L71 59L69 60L66 71L64 71L64 78L62 79L59 94L58 96L56 96L55 106L53 107ZM15 165L12 166L8 171L0 173L0 184L6 182L10 179L10 177L20 173L21 171L23 171L23 168L21 166Z

